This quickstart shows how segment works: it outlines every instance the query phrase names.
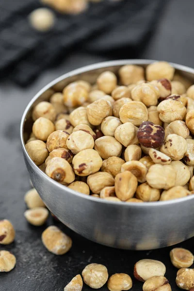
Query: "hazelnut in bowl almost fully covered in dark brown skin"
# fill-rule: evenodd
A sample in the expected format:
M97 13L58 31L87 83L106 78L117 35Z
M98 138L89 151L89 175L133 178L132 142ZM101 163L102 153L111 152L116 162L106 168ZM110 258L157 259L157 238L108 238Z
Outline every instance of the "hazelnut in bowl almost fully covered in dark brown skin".
M137 131L137 138L142 146L158 148L164 142L164 129L150 121L143 122Z

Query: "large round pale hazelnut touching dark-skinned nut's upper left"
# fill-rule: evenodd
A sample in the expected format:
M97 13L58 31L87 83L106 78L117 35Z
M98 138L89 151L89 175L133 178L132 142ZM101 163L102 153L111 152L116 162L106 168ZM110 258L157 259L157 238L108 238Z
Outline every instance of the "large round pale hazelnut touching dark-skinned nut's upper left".
M124 104L119 111L119 116L123 123L132 122L135 126L140 126L148 119L147 108L140 101L130 101Z

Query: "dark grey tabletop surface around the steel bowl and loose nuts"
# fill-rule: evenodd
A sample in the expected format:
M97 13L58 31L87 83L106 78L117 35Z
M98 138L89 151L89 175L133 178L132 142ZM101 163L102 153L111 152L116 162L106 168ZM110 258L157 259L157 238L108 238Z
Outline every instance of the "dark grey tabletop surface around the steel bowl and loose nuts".
M161 11L149 43L138 57L194 67L193 13L193 0L169 0ZM133 57L129 53L128 58ZM142 283L133 278L132 271L134 263L145 258L161 260L166 265L166 277L172 290L179 290L175 284L177 269L169 260L172 247L145 252L111 249L89 242L57 223L72 237L73 247L66 255L55 256L41 242L41 233L46 226L30 226L23 216L26 209L23 197L30 184L20 148L19 124L26 105L44 85L65 72L110 59L112 56L108 54L89 54L79 49L66 55L58 67L47 70L25 89L7 80L0 83L0 219L11 220L16 229L15 242L8 246L1 245L0 249L11 250L17 259L13 271L0 274L0 291L62 291L72 277L81 274L84 266L91 262L105 264L110 275L128 273L133 280L131 291L140 291ZM53 224L51 218L47 226L50 224ZM194 253L194 239L180 246ZM86 285L83 287L83 291L89 290L92 289ZM100 290L108 289L105 285Z

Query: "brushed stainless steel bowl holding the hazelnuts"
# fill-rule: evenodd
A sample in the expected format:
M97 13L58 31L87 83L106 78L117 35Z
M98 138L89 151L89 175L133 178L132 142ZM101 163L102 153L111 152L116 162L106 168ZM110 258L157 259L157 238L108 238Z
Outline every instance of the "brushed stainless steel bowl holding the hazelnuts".
M182 242L194 236L194 195L166 202L110 202L75 192L49 178L29 157L25 141L32 129L32 107L48 100L54 90L81 79L94 83L105 70L117 72L126 64L146 65L150 60L122 60L89 65L67 73L43 88L28 104L21 120L20 137L32 183L43 201L66 226L89 240L115 248L148 250ZM173 65L194 81L194 69Z

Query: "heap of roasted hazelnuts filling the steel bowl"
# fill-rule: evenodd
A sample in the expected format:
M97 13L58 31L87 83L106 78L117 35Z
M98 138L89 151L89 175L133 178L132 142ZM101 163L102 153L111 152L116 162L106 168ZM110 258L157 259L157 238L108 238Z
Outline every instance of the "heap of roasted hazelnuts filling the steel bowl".
M145 81L145 77L146 80ZM110 201L194 191L194 85L166 62L75 81L34 106L26 149L50 178Z

